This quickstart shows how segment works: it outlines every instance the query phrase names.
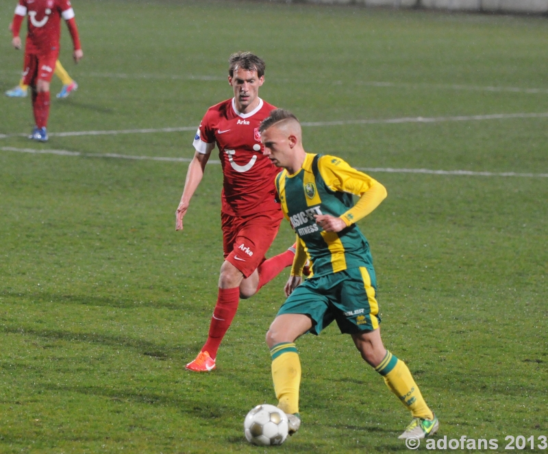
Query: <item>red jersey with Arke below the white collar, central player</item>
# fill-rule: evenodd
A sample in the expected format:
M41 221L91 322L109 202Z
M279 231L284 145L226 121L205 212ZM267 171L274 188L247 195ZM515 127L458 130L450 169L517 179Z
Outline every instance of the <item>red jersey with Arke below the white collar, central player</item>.
M275 107L259 99L253 112L236 110L234 99L227 99L208 109L200 123L193 145L198 153L208 154L219 148L223 167L223 213L247 216L279 210L275 200L274 178L279 169L262 155L259 134L261 121Z

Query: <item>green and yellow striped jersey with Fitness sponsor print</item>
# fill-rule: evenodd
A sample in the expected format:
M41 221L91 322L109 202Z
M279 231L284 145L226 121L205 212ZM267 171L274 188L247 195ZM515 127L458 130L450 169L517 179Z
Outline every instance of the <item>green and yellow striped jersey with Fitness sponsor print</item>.
M361 196L375 184L380 185L375 179L338 157L307 153L297 173L289 175L284 170L275 183L284 215L308 254L314 276L372 265L369 243L353 224L358 220L354 219L358 206L354 207L352 194ZM341 217L348 227L339 232L324 231L316 224L315 214Z

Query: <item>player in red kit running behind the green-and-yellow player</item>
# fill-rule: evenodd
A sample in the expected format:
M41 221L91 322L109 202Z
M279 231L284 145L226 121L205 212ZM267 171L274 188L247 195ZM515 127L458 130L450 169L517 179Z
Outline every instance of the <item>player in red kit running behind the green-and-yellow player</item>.
M240 297L251 297L290 266L295 257L292 247L269 260L264 257L283 216L273 184L279 169L262 155L259 134L261 121L275 109L258 96L264 82L264 62L249 52L232 54L228 82L234 98L214 105L203 117L176 213L175 229L182 230L190 199L216 144L224 175L221 225L225 262L208 340L196 359L186 365L195 372L215 368L217 350L238 310Z

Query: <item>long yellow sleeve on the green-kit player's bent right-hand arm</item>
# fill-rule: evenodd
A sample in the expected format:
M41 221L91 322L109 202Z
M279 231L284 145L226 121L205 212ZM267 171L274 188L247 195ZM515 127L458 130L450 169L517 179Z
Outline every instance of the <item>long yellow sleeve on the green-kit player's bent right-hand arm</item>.
M338 157L321 157L318 170L329 189L360 196L356 205L340 215L347 226L370 214L386 198L386 188L382 184Z

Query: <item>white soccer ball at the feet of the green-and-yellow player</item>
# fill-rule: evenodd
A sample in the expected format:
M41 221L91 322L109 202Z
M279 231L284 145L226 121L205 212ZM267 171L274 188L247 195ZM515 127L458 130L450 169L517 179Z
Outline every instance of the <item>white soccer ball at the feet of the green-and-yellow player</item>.
M274 405L264 403L251 409L244 420L247 441L260 446L282 444L288 436L287 415Z

